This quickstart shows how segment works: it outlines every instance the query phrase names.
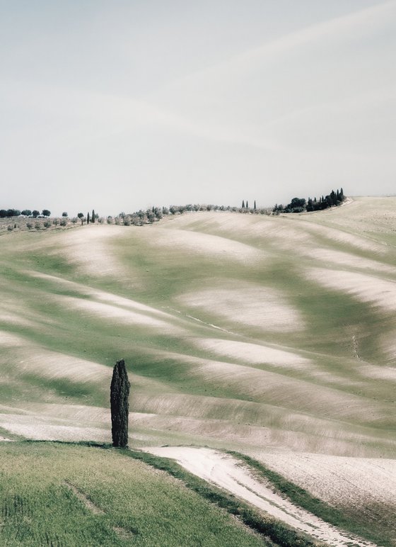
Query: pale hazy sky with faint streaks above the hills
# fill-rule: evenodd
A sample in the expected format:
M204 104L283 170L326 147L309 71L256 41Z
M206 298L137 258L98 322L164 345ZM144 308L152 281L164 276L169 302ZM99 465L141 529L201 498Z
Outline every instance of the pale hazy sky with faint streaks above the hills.
M0 208L396 193L396 0L0 0Z

